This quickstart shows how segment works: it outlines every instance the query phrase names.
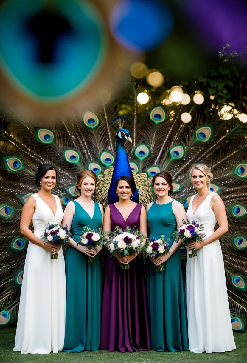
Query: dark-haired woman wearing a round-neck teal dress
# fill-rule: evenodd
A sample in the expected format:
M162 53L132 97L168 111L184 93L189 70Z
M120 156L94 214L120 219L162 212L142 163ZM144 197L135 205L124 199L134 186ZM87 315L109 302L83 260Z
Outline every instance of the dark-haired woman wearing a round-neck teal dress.
M187 313L181 272L180 244L172 233L186 220L184 207L168 193L172 191L172 178L160 172L152 179L156 202L147 205L150 240L162 234L170 238L169 254L147 260L147 293L151 321L151 348L158 351L188 350ZM164 270L156 272L154 265Z

